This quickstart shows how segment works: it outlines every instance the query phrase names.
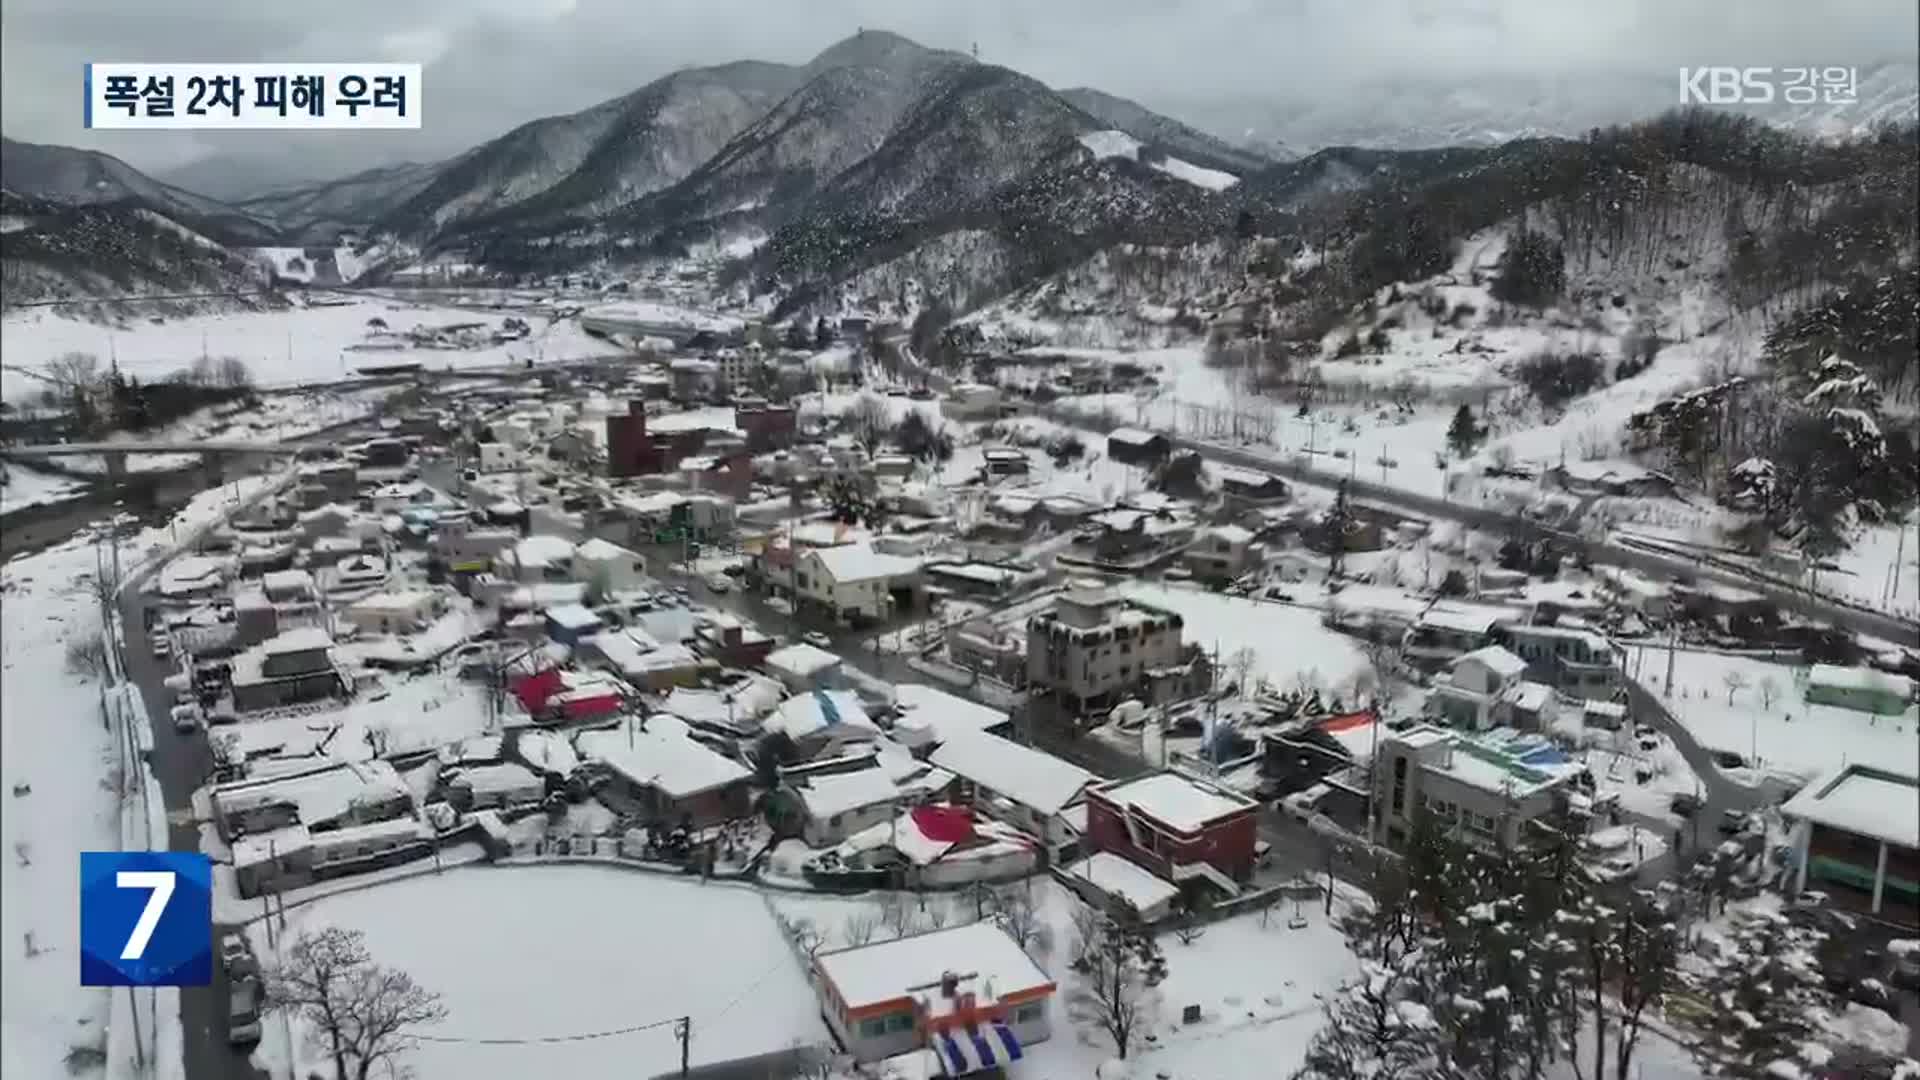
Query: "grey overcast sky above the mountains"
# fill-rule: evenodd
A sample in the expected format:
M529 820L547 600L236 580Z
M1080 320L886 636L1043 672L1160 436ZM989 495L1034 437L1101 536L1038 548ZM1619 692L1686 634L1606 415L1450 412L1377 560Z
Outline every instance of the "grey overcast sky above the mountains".
M1912 61L1914 0L0 0L0 129L159 171L204 136L86 133L86 61L424 61L424 131L292 136L334 173L434 160L674 67L804 61L866 25L1148 106L1380 79ZM324 27L324 29L323 29ZM271 154L286 135L223 136ZM315 177L319 179L319 177Z

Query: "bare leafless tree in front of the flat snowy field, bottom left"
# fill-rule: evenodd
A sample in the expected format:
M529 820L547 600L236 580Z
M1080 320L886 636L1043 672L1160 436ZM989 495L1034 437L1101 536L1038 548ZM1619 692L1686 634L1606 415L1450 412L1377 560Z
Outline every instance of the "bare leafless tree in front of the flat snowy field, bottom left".
M392 1068L417 1028L447 1017L438 994L376 965L359 930L301 934L265 976L267 1009L305 1022L342 1080L367 1080L378 1063Z

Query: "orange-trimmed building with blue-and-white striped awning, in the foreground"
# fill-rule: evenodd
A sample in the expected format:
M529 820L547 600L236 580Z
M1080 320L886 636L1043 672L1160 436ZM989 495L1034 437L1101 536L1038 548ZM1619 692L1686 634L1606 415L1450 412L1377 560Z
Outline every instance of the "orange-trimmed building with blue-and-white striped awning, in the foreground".
M966 1076L1023 1057L1052 1036L1054 982L993 922L820 953L814 990L854 1061L914 1049Z

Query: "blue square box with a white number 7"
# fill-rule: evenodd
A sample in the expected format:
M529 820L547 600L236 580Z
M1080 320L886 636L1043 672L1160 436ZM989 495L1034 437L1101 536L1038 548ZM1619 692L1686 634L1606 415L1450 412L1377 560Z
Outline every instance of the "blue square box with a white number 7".
M213 982L213 863L194 851L81 851L81 986Z

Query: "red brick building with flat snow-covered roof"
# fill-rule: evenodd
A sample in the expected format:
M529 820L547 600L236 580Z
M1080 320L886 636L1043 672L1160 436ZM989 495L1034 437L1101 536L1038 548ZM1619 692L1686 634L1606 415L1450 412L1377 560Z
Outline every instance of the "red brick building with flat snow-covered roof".
M1087 792L1087 847L1112 851L1175 884L1238 896L1254 876L1260 803L1179 773L1150 773Z

